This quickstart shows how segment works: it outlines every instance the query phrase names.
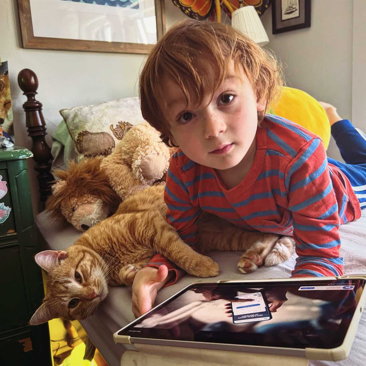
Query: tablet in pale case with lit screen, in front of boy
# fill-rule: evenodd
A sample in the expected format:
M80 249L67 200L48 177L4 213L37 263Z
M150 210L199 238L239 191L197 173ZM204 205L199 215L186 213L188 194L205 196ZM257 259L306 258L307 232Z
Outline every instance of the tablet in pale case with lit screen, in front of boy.
M345 358L366 276L194 283L114 334L117 343Z

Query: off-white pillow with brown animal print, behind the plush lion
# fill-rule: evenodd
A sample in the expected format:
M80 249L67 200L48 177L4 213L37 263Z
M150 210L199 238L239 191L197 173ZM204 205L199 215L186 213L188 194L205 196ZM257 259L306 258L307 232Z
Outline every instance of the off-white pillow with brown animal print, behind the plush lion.
M144 122L138 97L61 109L60 114L75 143L78 161L111 154L130 126Z

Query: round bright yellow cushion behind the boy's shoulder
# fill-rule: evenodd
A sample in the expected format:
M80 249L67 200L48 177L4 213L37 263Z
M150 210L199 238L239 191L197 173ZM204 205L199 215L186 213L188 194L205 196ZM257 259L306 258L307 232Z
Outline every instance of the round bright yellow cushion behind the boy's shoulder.
M272 111L275 115L295 122L318 135L323 141L325 150L328 149L330 140L328 117L318 101L305 91L284 86Z

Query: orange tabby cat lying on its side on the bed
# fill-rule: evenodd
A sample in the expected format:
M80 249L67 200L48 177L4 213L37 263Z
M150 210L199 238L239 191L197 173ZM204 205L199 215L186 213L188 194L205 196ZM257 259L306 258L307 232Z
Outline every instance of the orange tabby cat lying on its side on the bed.
M128 197L113 216L83 233L67 251L46 250L36 262L48 272L47 294L30 320L36 325L61 317L85 319L108 294L108 285L130 285L137 270L156 253L191 275L211 277L219 265L180 239L167 221L164 186ZM293 252L292 238L248 232L210 214L199 221L200 252L246 250L238 268L248 273L278 264Z

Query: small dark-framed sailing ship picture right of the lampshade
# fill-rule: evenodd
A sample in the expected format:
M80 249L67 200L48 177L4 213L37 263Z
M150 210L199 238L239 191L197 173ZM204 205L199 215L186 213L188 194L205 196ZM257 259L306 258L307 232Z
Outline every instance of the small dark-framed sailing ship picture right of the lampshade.
M272 34L310 27L310 0L272 0Z

